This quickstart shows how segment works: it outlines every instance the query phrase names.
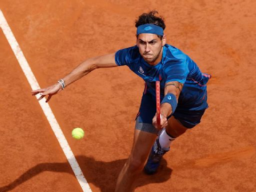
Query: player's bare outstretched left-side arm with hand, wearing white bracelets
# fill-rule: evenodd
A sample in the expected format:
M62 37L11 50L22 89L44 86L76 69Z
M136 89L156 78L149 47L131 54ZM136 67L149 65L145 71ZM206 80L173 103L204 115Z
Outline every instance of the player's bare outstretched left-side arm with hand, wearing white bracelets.
M62 79L64 80L65 86L71 84L72 82L78 80L84 75L88 74L90 71L96 68L103 67L114 67L117 66L114 59L115 53L106 54L102 56L97 56L93 58L89 58L75 67L70 73L64 76ZM62 90L60 83L55 83L46 88L40 88L36 90L31 90L32 95L36 95L40 93L40 97L37 100L42 99L45 95L48 95L46 102L49 101L50 97Z

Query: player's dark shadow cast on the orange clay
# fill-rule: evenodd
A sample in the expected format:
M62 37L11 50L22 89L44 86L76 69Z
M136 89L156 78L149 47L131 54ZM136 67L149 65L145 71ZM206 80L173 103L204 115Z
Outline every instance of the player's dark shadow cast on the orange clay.
M97 161L92 157L79 155L75 157L79 163L79 166L84 173L84 176L88 183L93 183L99 187L103 192L114 191L115 182L122 166L126 159L114 160L111 162ZM159 167L159 171L155 175L146 175L141 173L137 179L137 186L143 186L148 183L163 182L170 178L171 169L166 166L166 160L162 159ZM68 162L48 162L39 163L32 168L28 169L18 178L13 180L11 183L0 187L0 192L12 190L19 184L32 178L43 171L54 171L54 172L67 172L72 175L72 169Z

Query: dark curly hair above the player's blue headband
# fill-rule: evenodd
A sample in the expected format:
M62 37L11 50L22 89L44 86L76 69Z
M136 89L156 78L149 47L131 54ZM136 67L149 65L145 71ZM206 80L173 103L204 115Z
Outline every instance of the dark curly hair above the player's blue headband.
M157 26L162 27L164 30L165 24L163 21L162 16L155 16L155 14L158 14L156 10L151 10L148 13L143 13L138 16L138 19L135 20L135 27L138 27L141 24L155 24Z

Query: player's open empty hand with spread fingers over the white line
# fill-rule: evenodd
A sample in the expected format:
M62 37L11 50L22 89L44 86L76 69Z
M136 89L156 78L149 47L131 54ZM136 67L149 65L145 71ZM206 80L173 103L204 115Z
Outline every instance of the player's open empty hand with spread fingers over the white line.
M39 88L36 90L31 90L31 93L32 93L32 95L36 95L36 94L40 93L41 96L39 98L37 98L37 100L42 99L45 95L48 94L48 97L45 101L45 102L48 102L52 95L57 94L61 90L62 90L61 85L59 83L57 83L57 84L48 86L46 88Z

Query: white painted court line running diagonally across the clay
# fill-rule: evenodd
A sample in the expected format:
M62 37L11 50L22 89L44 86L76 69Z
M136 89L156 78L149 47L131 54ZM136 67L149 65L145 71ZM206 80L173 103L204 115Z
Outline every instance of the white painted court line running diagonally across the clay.
M20 49L20 47L19 47L6 19L4 18L1 10L0 10L0 27L2 28L2 31L3 31L4 35L6 36L8 42L11 46L11 49L14 52L14 54L19 62L19 65L22 68L31 88L32 89L40 88L37 80L35 79L33 72L31 71L31 68L28 65L28 63L23 55L23 52ZM38 95L36 97L38 98L39 96L40 95ZM83 176L83 173L74 157L73 152L71 151L71 149L67 143L67 140L66 140L56 118L54 117L54 114L52 113L48 103L45 102L45 98L41 99L39 101L39 104L41 105L41 108L42 108L46 118L48 119L49 124L50 124L55 136L57 137L58 142L59 142L82 190L84 192L85 191L91 192L88 182L86 181L85 177Z

